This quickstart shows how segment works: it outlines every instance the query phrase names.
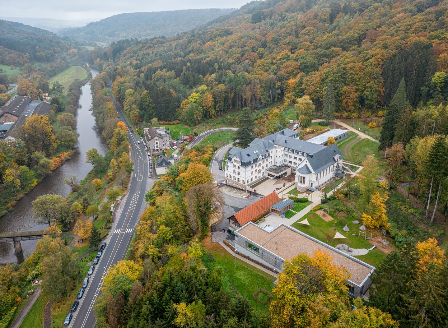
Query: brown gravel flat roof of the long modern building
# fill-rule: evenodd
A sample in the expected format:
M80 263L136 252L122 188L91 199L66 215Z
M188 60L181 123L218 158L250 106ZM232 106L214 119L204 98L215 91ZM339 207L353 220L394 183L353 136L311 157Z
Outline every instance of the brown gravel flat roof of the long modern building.
M313 256L313 252L318 249L326 251L332 256L333 264L343 266L349 271L351 274L349 280L356 285L361 285L375 269L370 264L338 251L336 248L285 224L281 224L271 232L268 232L260 226L249 222L235 231L235 234L249 239L258 246L280 256L283 260L290 261L294 256L303 253Z

